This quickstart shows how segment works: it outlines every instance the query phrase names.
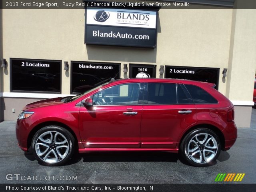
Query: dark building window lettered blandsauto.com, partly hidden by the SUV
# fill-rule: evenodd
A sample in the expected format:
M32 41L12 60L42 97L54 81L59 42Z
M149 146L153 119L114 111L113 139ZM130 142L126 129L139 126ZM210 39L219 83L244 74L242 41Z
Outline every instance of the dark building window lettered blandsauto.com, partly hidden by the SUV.
M72 61L71 65L72 93L85 92L120 76L120 64Z

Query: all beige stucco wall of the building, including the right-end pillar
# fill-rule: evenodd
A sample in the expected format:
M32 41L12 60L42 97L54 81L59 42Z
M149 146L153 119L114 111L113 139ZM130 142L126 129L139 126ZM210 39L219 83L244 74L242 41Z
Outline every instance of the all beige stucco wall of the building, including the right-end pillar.
M230 100L252 101L256 10L160 9L156 49L85 45L84 9L0 11L4 29L3 57L8 62L7 68L0 70L0 92L1 88L2 92L10 92L9 58L34 58L62 60L62 94L70 94L70 70L63 70L63 62L80 60L118 62L121 68L123 64L129 68L129 63L156 64L157 78L160 65L220 68L219 91ZM226 78L222 78L223 68L228 68ZM123 77L126 76L121 69ZM16 102L20 106L15 107ZM32 100L4 98L6 120L16 119L12 108L18 112L29 102ZM244 106L244 110L242 107L236 109L242 114L246 111L250 117L248 106ZM243 125L248 126L247 122Z

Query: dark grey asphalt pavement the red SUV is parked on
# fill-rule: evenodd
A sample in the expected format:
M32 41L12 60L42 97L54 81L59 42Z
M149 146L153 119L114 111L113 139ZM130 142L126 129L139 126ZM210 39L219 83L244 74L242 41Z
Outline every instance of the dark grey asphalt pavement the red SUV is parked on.
M15 122L0 123L0 183L160 184L216 183L219 173L245 173L241 182L256 183L256 109L250 128L239 128L234 146L210 167L193 167L169 152L92 152L69 164L47 167L17 146Z

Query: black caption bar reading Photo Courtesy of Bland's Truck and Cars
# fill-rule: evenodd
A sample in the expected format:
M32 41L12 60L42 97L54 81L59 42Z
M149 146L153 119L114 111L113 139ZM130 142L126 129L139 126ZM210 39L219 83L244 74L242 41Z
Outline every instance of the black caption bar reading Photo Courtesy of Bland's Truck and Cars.
M255 189L256 184L0 184L1 192L252 192Z

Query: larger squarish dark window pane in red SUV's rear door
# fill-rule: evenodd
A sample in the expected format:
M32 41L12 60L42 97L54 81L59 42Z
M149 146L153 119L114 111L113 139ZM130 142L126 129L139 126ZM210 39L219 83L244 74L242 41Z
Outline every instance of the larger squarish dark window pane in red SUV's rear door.
M177 104L176 84L148 83L148 104Z

